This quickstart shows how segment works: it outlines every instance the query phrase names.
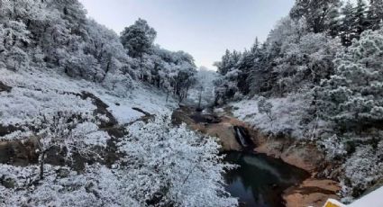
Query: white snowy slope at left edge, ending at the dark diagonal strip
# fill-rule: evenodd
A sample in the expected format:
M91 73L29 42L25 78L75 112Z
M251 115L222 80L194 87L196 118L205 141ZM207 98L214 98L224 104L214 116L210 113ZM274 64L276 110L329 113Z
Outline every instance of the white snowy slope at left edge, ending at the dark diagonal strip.
M49 73L19 73L0 68L0 81L12 86L0 94L0 124L21 124L48 112L92 112L96 106L76 94L79 87ZM68 89L68 90L67 90Z

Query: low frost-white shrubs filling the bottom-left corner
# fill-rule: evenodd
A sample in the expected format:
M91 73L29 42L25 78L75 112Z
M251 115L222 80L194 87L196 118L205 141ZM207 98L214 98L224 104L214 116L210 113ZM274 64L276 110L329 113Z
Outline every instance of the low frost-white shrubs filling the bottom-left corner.
M47 176L40 184L30 183L38 166L0 166L0 176L9 177L0 184L1 206L141 206L125 190L119 175L105 166L87 166L81 174L68 167L46 166Z

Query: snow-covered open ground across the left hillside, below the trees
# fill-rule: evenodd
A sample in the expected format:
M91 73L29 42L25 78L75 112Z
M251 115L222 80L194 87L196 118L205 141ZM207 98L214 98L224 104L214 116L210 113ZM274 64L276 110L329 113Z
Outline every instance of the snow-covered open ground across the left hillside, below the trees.
M139 119L140 108L152 114L169 113L177 106L174 99L166 102L166 94L153 87L136 83L126 94L116 95L101 85L62 76L55 71L18 71L0 68L0 81L12 90L0 93L0 125L23 125L39 116L53 112L78 112L91 114L96 105L83 99L82 92L95 94L109 107L119 123ZM19 137L7 136L0 139Z

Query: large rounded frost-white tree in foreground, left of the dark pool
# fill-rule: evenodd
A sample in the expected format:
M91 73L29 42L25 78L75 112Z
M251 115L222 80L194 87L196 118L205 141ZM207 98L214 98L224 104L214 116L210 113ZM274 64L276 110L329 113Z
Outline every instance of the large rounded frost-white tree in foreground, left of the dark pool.
M169 116L148 124L138 122L120 143L126 154L120 170L126 191L143 205L234 206L224 191L222 173L228 166L218 156L214 139L186 126L174 127Z

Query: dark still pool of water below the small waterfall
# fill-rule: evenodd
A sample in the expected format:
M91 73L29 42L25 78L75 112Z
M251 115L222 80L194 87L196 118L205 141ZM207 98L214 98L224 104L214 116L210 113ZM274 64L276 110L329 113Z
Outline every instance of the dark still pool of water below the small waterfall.
M308 177L304 170L264 155L231 152L225 161L239 165L225 179L229 184L226 190L238 197L242 206L284 206L281 193Z

